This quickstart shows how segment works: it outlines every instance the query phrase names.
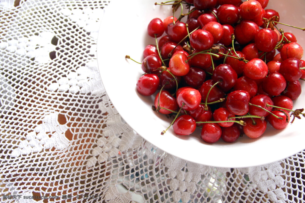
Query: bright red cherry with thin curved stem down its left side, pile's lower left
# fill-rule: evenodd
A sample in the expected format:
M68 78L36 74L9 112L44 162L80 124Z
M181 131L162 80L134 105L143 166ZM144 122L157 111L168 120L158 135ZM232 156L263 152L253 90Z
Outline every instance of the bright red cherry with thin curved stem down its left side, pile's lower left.
M157 93L154 101L154 105L158 108L158 100L159 100L159 93ZM167 90L162 90L160 94L159 106L170 109L172 111L176 111L178 109L178 103L175 97L173 97ZM160 109L159 112L161 114L171 114L172 112L165 109Z

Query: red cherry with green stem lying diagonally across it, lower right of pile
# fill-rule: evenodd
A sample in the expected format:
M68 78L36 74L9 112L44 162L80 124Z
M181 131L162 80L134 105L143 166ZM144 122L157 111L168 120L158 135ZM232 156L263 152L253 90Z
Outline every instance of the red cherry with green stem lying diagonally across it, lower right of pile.
M250 103L260 106L268 111L272 110L272 107L267 106L267 104L273 105L273 101L271 100L271 98L269 96L264 95L264 94L259 94L257 96L254 96L253 98L250 99ZM250 105L249 113L254 116L266 117L267 115L269 115L269 112L265 111L264 109Z

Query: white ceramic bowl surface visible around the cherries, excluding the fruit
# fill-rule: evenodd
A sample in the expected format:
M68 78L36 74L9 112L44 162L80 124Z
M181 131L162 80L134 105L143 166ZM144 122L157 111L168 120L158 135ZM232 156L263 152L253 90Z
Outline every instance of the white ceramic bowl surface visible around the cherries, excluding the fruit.
M305 118L296 119L284 130L275 130L268 124L260 138L243 136L234 143L219 140L207 144L200 139L199 129L192 136L177 136L172 128L165 135L160 135L172 120L152 111L154 96L144 97L137 93L136 82L143 74L141 65L125 59L125 55L130 55L142 62L145 46L155 44L155 39L147 34L148 23L153 18L165 19L172 15L171 6L154 5L155 2L112 0L103 16L97 44L99 71L106 92L123 119L139 135L174 156L217 167L262 165L305 149ZM303 0L269 0L267 8L277 10L283 23L305 26ZM178 15L180 12L176 12ZM297 42L305 48L303 31L279 27L285 32L293 32ZM302 93L294 102L294 109L305 107L304 99Z

